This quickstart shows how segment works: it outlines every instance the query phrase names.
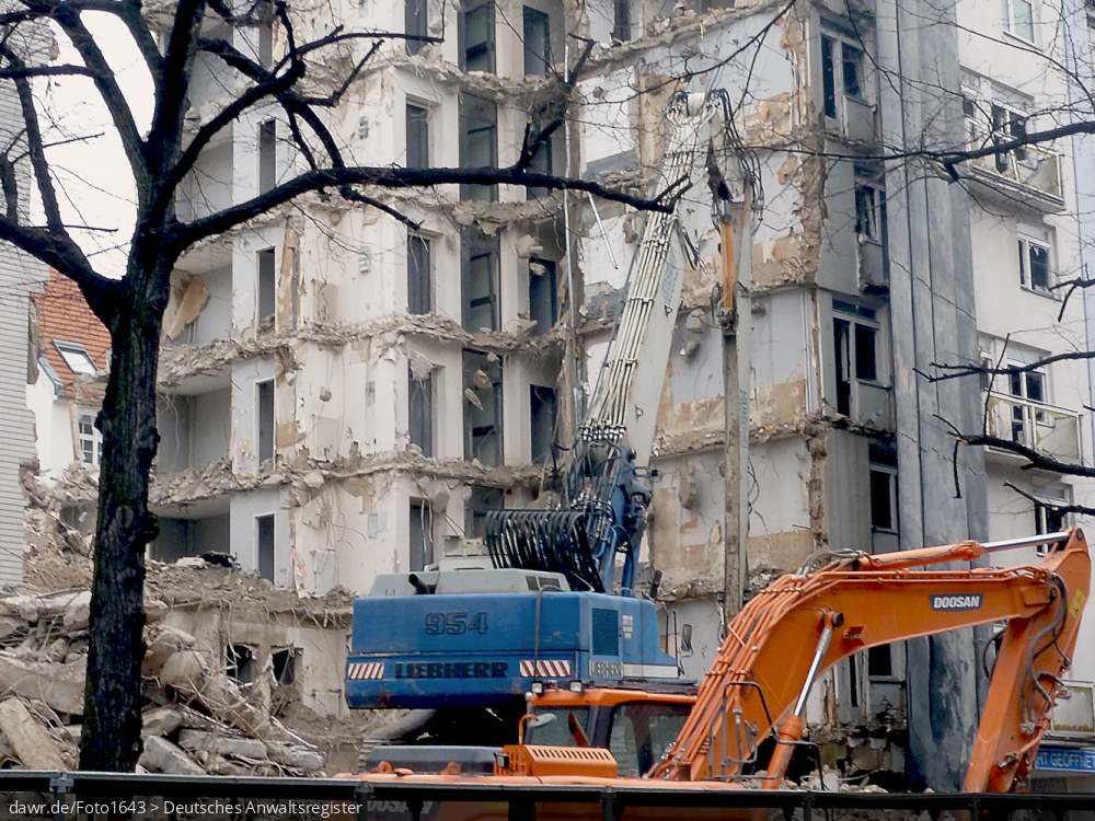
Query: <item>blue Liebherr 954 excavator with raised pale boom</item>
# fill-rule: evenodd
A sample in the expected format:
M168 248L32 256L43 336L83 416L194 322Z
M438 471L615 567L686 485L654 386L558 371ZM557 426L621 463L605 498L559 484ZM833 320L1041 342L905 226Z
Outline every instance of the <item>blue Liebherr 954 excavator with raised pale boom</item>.
M655 603L635 590L635 570L684 268L696 264L698 236L710 227L707 188L716 207L728 199L725 95L678 94L665 119L655 190L684 193L671 213L647 216L558 505L488 512L494 569L378 577L354 603L350 707L491 707L519 716L525 694L545 686L679 686L678 662L662 650ZM475 731L482 738L485 728Z

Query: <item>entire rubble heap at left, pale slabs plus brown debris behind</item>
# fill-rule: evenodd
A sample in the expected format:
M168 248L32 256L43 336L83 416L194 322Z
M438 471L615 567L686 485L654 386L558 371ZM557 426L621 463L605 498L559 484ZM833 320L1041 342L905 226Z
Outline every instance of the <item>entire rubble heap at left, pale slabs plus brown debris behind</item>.
M80 742L91 545L41 508L27 510L26 525L27 581L0 597L0 768L64 771L76 767ZM264 692L233 678L221 645L173 624L208 617L211 606L343 624L349 603L339 591L302 600L231 567L150 562L138 772L322 776L351 766L370 717L325 721L291 686L267 681Z

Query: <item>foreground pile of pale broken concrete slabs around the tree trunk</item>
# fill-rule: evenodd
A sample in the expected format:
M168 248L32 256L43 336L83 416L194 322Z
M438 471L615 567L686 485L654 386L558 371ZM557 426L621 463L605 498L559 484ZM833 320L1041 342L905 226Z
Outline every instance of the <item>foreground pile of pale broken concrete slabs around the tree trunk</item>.
M0 766L70 770L77 763L91 592L0 598ZM187 633L148 602L142 667L147 772L316 775L324 756L252 704Z

